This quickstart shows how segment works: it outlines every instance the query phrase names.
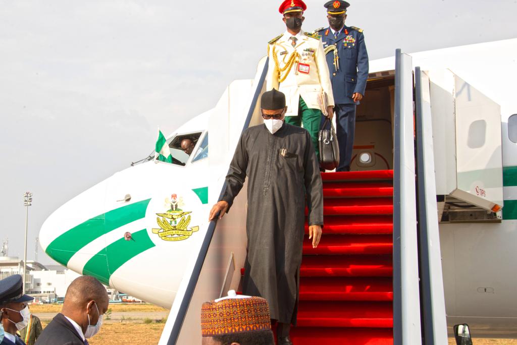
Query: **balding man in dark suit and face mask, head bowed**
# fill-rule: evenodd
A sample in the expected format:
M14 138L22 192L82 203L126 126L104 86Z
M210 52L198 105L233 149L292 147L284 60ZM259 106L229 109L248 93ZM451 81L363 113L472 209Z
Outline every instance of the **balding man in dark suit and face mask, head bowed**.
M68 287L63 310L43 330L36 345L85 345L102 326L108 293L99 280L81 276Z

